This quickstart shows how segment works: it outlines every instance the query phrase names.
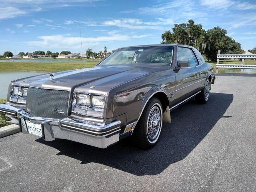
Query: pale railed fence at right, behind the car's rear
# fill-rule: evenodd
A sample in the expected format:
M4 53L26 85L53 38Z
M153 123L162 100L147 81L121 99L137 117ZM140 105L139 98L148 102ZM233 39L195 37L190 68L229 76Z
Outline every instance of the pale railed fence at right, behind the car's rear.
M241 59L241 64L219 64L220 59ZM241 69L241 73L244 69L256 69L256 65L244 65L245 59L256 59L256 55L220 54L220 50L218 50L216 63L217 73L219 68Z

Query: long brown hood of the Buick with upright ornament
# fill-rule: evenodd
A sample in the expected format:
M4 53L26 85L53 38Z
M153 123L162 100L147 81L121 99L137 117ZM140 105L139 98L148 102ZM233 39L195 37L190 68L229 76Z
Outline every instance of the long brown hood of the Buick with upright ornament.
M140 76L166 70L166 67L168 66L95 66L52 73L53 80L50 74L43 74L16 80L13 84L58 90L82 89L93 85L97 90L107 91Z

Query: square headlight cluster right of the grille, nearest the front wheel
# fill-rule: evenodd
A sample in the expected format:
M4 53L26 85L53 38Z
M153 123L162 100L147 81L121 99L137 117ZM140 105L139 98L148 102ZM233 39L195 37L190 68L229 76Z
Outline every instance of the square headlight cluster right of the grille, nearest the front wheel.
M90 93L75 93L72 112L85 116L103 118L106 96Z

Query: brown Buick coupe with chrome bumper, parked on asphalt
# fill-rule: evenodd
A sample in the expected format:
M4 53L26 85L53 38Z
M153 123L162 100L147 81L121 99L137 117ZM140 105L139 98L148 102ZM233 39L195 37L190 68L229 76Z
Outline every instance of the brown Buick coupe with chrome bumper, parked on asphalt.
M97 66L10 82L0 112L22 133L106 148L131 136L154 146L170 111L190 98L206 103L215 75L191 46L161 44L116 50Z

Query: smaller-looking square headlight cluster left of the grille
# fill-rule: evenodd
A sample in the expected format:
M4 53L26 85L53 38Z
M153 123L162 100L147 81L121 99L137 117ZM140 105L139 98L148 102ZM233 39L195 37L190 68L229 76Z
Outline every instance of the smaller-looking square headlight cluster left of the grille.
M28 87L12 86L12 89L10 92L10 101L26 104L27 93L28 93Z

